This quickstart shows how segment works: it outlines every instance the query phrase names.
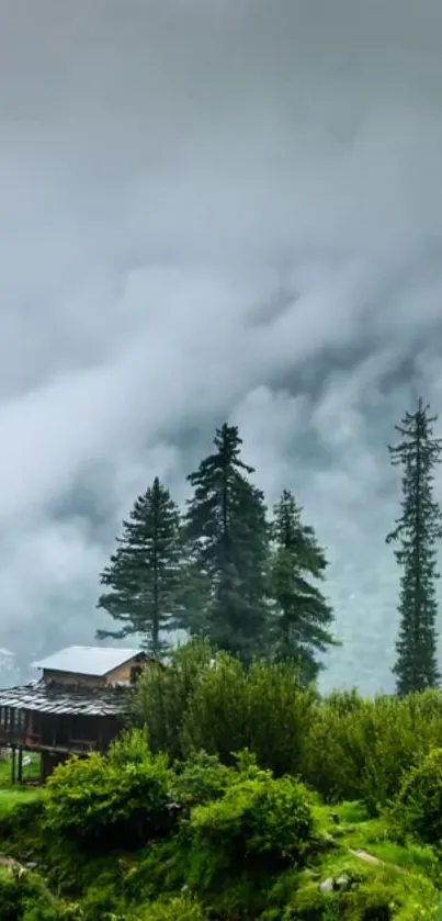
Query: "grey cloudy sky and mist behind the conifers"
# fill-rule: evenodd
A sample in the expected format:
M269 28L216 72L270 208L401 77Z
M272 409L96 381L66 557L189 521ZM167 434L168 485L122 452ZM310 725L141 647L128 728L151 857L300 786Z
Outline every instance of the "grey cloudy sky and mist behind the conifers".
M1 4L1 647L93 643L122 517L229 419L328 549L324 686L392 687L386 443L442 412L441 35L437 0Z

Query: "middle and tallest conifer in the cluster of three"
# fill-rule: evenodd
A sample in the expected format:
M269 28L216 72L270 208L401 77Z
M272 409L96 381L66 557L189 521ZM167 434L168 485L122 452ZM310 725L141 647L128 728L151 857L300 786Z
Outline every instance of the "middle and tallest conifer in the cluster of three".
M240 459L236 426L216 430L215 451L188 478L185 532L205 577L205 614L197 632L249 661L265 648L268 525L263 494Z

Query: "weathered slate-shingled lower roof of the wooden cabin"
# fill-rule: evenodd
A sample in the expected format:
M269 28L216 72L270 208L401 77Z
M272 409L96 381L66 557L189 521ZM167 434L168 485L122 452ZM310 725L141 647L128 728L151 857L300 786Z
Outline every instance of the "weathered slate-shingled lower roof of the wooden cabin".
M123 687L65 689L42 679L35 684L0 690L0 707L36 710L41 714L120 716L127 712L127 688Z

